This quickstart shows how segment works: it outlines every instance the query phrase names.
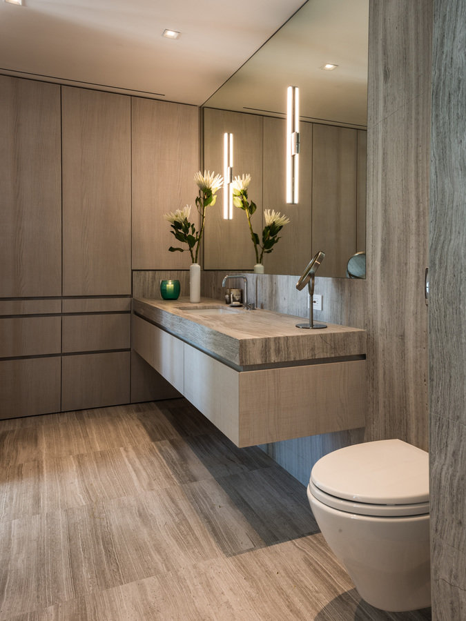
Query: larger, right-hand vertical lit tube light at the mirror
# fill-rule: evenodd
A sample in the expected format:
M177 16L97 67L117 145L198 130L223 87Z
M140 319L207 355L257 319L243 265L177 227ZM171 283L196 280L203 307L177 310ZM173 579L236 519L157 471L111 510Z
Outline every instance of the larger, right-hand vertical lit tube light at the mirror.
M300 92L298 86L287 91L287 203L298 203L300 153Z

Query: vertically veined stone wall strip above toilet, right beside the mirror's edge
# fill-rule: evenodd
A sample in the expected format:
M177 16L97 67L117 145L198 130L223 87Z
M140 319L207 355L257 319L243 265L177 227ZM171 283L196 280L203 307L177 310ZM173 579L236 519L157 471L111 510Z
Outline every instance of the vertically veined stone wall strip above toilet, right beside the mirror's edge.
M429 0L373 3L367 129L367 440L424 450L431 11Z

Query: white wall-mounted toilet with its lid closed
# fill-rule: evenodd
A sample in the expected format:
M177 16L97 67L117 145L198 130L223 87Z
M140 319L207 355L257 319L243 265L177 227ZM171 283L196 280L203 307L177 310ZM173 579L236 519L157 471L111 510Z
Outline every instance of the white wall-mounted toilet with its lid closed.
M430 606L429 455L401 440L322 457L307 496L360 596L386 611Z

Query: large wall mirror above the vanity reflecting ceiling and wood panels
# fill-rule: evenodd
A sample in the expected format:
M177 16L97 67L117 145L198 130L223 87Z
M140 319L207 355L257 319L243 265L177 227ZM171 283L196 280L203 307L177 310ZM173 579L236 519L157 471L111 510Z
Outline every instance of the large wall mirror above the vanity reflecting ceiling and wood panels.
M249 173L252 224L264 209L287 215L269 274L298 275L323 250L319 275L346 277L365 252L369 0L308 0L202 108L204 167L223 172L224 132L233 134L233 176ZM337 67L325 70L326 63ZM285 199L287 87L300 88L300 190ZM204 268L251 270L244 212L223 219L223 197L206 220Z

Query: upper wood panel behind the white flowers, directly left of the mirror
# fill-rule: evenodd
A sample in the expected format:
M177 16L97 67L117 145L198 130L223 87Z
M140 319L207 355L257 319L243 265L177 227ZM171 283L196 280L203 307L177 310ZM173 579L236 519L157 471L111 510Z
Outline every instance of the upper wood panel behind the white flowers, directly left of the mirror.
M163 215L189 204L197 221L198 108L136 97L132 105L133 270L188 268L188 252L168 252L177 244Z

